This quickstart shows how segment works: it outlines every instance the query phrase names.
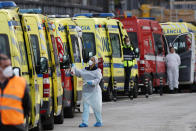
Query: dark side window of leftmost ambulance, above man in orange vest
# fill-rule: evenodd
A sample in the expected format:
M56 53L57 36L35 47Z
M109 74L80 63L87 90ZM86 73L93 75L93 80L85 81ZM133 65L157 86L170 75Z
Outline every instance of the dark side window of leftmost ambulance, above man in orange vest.
M0 53L5 54L10 58L10 47L6 34L0 34Z

